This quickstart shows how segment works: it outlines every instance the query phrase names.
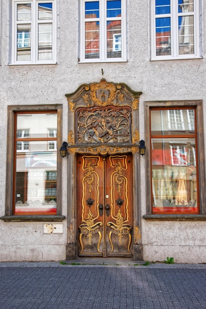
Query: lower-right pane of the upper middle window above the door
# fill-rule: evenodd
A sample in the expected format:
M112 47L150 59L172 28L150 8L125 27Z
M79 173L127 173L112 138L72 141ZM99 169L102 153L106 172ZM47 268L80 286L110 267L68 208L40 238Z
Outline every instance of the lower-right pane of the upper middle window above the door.
M107 23L107 58L122 56L121 20Z

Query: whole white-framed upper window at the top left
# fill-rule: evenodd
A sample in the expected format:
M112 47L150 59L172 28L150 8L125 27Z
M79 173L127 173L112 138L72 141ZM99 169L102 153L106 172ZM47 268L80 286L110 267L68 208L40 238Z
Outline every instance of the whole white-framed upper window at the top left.
M56 63L56 0L12 4L11 64Z

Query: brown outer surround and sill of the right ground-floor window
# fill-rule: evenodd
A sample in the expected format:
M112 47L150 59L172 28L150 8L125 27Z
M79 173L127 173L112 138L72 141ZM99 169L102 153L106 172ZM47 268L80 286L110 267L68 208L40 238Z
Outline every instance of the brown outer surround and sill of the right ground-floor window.
M153 214L152 213L152 184L151 184L151 150L150 150L150 110L153 108L187 108L196 109L197 127L197 168L199 173L199 214ZM201 129L200 129L201 128ZM204 147L204 121L203 121L203 104L202 101L148 101L145 102L145 135L146 135L146 220L206 220L206 175L205 175L205 147ZM182 136L182 135L181 135Z

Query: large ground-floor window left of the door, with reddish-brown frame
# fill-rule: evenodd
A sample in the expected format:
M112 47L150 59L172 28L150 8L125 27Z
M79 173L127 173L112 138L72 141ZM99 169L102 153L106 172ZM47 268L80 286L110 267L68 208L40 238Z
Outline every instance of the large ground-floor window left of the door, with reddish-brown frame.
M61 106L8 108L6 215L61 215L61 114Z

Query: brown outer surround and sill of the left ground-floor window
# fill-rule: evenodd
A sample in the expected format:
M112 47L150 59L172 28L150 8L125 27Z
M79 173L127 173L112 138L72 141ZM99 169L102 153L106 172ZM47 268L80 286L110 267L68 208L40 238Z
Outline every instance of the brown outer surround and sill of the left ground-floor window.
M56 215L14 215L13 212L13 191L15 190L14 168L15 168L15 114L16 113L57 113L57 213ZM58 151L62 144L62 105L36 105L36 106L8 106L8 125L7 125L7 165L6 165L6 198L5 198L5 215L0 219L4 221L62 221L62 158Z

